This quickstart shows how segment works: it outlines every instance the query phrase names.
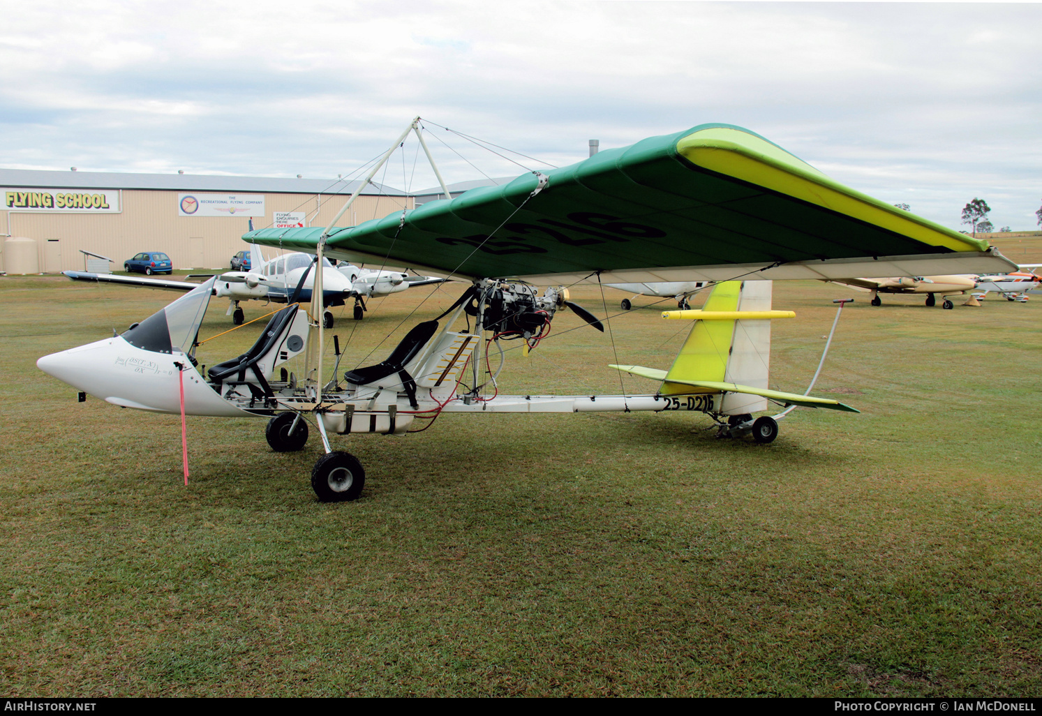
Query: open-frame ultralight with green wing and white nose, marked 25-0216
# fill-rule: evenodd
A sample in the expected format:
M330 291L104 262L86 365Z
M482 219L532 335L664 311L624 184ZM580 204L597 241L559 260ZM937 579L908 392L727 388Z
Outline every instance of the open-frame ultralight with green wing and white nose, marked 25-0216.
M413 130L423 141L414 120L362 187ZM315 251L316 291L332 273L323 270L324 255L387 255L472 282L445 314L413 327L382 362L330 375L321 319L291 303L250 350L203 375L194 351L218 280L210 278L122 336L46 355L38 366L117 405L266 418L268 443L278 451L301 449L314 424L325 454L312 472L312 487L321 500L350 500L362 492L365 470L353 455L332 449L330 434L400 435L447 412L685 411L710 416L721 435L751 431L770 442L776 421L751 418L767 401L850 409L768 390L770 320L789 314L770 308L767 280L752 279L835 279L871 274L869 267L893 275L1013 268L986 242L838 186L729 125L650 138L547 174L337 228L355 196L325 229L262 229L244 239ZM730 280L736 278L746 280ZM563 285L669 280L718 285L702 312L668 312L669 318L695 319L669 370L617 366L654 380L652 391L499 393L490 353L507 340L538 349L555 313L568 305ZM535 285L548 288L540 294ZM467 326L458 326L464 320ZM624 334L615 335L624 350ZM301 354L305 362L314 356L297 373L304 377L287 379L284 365Z

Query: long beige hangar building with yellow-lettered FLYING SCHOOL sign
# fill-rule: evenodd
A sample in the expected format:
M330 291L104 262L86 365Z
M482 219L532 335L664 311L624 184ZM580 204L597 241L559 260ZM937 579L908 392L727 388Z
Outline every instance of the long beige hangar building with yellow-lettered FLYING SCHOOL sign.
M111 258L117 271L140 251L164 251L175 269L226 269L247 247L242 234L250 220L254 228L325 226L358 183L0 169L0 271L23 272L14 265L16 249L24 265L33 248L40 272L82 271L81 250ZM416 203L400 190L370 184L340 223L354 225ZM35 245L14 244L16 238Z

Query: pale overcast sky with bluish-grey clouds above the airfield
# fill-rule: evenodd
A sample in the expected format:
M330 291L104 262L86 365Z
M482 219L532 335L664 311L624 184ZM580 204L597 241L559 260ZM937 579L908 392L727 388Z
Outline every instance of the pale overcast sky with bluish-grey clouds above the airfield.
M725 122L953 228L974 197L996 229L1038 227L1042 4L0 8L4 168L334 178L417 115L567 165L590 139L604 149ZM490 176L522 171L428 127ZM480 176L430 145L447 181ZM386 183L437 183L406 150Z

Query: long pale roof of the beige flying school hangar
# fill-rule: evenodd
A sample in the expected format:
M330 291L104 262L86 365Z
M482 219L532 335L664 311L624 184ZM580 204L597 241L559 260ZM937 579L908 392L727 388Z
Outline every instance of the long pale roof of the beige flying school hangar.
M67 189L144 189L177 192L253 192L257 194L350 194L361 181L287 179L218 174L129 174L124 172L55 172L0 169L0 187ZM370 184L365 194L407 196L387 184Z

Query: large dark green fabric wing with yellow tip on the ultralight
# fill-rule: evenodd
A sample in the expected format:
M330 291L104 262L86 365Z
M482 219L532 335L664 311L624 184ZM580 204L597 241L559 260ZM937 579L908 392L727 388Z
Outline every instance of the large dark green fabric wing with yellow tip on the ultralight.
M982 240L844 187L747 129L703 124L539 177L330 231L326 254L569 283L1007 271ZM244 240L315 252L322 228ZM596 280L596 278L592 278Z

